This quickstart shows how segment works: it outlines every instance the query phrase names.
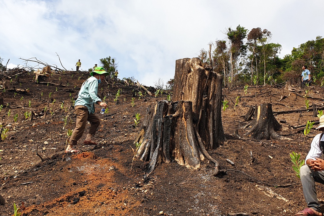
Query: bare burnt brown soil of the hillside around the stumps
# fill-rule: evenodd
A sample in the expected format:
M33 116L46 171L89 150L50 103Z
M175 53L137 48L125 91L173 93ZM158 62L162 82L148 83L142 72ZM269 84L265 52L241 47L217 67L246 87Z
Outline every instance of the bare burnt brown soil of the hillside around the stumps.
M12 74L14 73L8 75ZM140 113L143 120L146 108L155 104L156 100L166 99L166 95L157 98L136 97L135 106L132 107L132 90L138 90L135 87L125 87L123 83L117 83L113 87L99 84L98 94L103 92L109 105L109 116L106 117L99 113L100 107L96 107L102 122L93 140L99 145L82 145L85 133L76 146L82 153L64 154L66 130L74 128L76 118L70 98L75 96L87 77L86 72L53 74L45 78L45 81L64 85L68 83L68 86L47 86L35 83L33 74L26 72L17 78L12 76L9 85L20 88L21 83L21 88L29 88L29 93L1 93L4 106L0 123L9 130L6 139L0 143L0 194L7 201L0 205L0 215L13 215L13 204L20 205L22 202L26 206L26 210L22 211L25 216L211 216L227 215L229 212L260 216L293 215L306 207L301 184L266 186L236 171L214 177L213 164L208 160L198 170L187 169L172 160L171 163L159 165L148 178L144 178L147 162L135 158L131 171L131 146L134 148L133 140L138 132L133 126L135 114ZM121 96L116 104L113 99L118 89L121 89ZM323 89L314 86L309 89L309 96L322 98ZM49 98L50 92L52 99L56 100L54 103ZM255 97L256 93L265 94ZM304 95L305 91L299 94ZM307 120L318 120L317 117L312 117L312 112L275 115L277 120L286 120L286 123L281 123L285 130L279 134L290 139L254 141L244 136L246 129L241 127L247 124L243 117L249 105L270 102L273 111L293 110L304 108L305 98L285 92L282 87L268 85L249 87L246 95L243 87L223 89L223 95L233 102L237 95L241 98L235 108L229 102L230 106L222 113L227 141L218 149L209 151L220 162L220 168L238 170L268 184L300 182L292 169L289 153L303 152L302 157L305 158L311 140L318 131L312 129L305 138L304 128L291 129L290 126L306 124ZM281 95L288 97L279 102ZM310 104L315 102L323 106L321 100L309 101ZM63 110L60 108L62 102ZM44 107L47 107L46 118L43 117ZM50 108L54 111L52 117ZM10 116L7 114L9 110ZM34 111L37 115L32 121L25 120L26 111ZM14 122L15 114L18 114L17 122ZM69 124L64 127L66 116ZM236 129L242 139L233 135ZM36 155L36 146L44 162ZM249 164L250 151L255 157L252 164ZM234 162L234 165L226 162L226 159ZM267 196L257 185L259 188L263 186L271 189L287 201L279 199L279 196ZM318 198L321 199L324 196L323 185L317 186Z

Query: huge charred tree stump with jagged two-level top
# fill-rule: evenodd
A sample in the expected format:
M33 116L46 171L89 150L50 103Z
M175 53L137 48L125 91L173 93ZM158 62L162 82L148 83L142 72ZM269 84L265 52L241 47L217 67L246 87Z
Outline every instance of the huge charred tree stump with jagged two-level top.
M222 76L202 66L199 58L176 61L175 102L158 101L148 107L134 143L141 146L137 157L149 161L150 174L171 157L179 164L197 169L205 155L215 163L206 149L215 149L225 140L222 120ZM148 175L147 174L147 175Z

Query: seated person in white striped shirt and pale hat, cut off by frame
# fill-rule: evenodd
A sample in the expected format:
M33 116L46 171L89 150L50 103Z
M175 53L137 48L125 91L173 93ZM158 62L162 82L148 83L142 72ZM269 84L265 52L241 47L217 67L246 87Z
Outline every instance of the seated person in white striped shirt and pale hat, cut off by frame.
M319 118L318 128L321 131L313 138L310 150L305 158L305 165L300 168L300 180L307 208L295 215L323 216L318 202L315 182L324 184L324 160L319 157L324 153L324 115Z

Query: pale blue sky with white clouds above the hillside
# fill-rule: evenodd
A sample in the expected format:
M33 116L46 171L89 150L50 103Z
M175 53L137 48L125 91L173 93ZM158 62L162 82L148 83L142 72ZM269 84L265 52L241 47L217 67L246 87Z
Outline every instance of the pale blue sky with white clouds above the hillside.
M208 43L241 25L272 32L280 56L324 36L322 0L0 0L0 56L9 66L37 57L75 70L115 57L120 78L153 85L174 77L175 61L197 57ZM62 68L62 67L61 67Z

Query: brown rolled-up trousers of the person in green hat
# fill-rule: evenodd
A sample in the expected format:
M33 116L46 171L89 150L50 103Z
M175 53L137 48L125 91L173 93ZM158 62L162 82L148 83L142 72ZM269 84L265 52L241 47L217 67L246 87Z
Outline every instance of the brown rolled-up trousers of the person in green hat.
M95 114L89 114L88 108L86 106L75 106L74 108L76 114L76 126L72 132L70 138L70 145L76 145L77 141L82 137L84 130L86 129L87 121L89 121L90 128L89 134L95 135L98 126L100 125L100 119Z

